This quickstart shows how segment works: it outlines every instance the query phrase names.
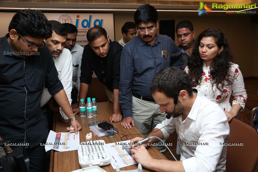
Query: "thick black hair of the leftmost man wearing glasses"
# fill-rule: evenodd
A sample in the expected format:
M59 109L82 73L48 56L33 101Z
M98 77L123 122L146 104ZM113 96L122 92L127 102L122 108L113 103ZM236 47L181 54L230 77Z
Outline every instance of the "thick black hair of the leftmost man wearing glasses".
M24 9L14 14L8 31L12 29L15 29L21 36L37 39L47 39L52 35L51 24L46 16L41 11L33 9Z

